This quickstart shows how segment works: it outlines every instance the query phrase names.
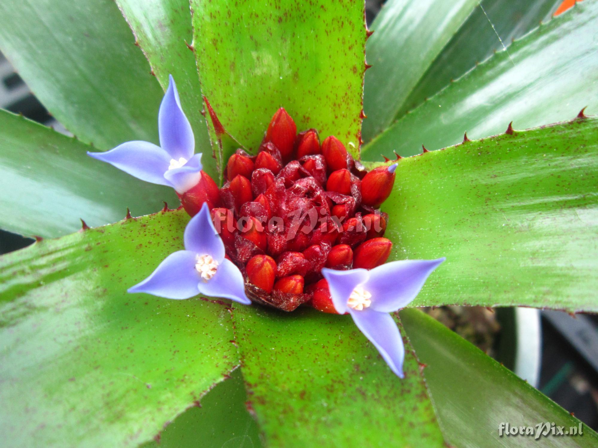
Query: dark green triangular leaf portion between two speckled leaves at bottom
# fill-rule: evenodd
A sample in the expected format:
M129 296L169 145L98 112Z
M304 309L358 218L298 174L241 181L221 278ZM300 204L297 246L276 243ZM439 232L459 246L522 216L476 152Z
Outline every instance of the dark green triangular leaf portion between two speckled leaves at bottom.
M157 441L143 448L260 447L258 425L245 407L247 394L241 369L218 383L199 407L192 407L164 428Z

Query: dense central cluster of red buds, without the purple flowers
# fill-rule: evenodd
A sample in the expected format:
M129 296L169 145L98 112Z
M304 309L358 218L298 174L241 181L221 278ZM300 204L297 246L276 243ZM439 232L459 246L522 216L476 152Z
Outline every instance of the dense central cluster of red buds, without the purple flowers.
M207 174L203 174L208 178ZM245 277L257 303L292 311L306 304L335 312L321 269L371 269L388 259L383 238L388 216L376 207L388 197L395 174L370 173L334 136L297 134L285 109L273 116L258 154L238 149L226 167L227 182L208 201L227 257ZM212 181L213 182L213 181ZM182 195L191 215L201 206Z

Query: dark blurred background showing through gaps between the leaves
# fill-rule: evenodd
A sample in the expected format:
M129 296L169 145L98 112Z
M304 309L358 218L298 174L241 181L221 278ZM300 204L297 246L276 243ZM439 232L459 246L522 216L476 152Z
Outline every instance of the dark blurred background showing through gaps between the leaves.
M556 2L546 20L574 2ZM374 20L382 3L380 0L366 1L368 24ZM488 17L487 26L491 27L493 14L500 11L487 8L484 13ZM496 50L501 50L498 37L501 30L497 29L496 33ZM509 42L504 43L508 45ZM68 134L1 53L0 108L21 113ZM0 231L0 254L26 247L33 241ZM570 316L561 311L529 308L443 306L426 311L598 430L598 317Z

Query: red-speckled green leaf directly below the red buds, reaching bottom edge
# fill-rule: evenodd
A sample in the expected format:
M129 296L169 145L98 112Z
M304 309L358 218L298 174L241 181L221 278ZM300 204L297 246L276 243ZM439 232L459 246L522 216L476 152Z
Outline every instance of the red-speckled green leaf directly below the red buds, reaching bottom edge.
M399 379L349 316L235 306L233 320L268 446L445 446L407 340Z

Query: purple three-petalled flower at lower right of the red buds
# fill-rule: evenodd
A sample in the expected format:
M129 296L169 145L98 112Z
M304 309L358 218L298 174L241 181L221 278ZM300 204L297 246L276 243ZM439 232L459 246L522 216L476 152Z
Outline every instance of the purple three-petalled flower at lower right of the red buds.
M369 271L322 269L334 308L339 314L351 315L358 329L376 346L399 378L404 376L405 348L389 313L408 305L428 275L444 260L400 260Z

